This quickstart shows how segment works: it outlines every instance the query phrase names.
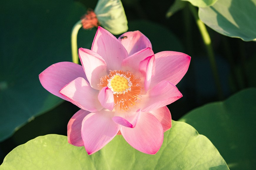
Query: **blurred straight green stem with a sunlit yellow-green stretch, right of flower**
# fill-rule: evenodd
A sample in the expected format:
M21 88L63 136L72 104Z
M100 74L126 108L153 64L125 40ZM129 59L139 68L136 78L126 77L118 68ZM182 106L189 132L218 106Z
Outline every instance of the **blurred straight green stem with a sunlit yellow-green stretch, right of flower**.
M209 60L210 60L213 76L214 76L214 79L215 79L218 98L220 100L222 100L224 98L224 95L223 95L222 88L221 88L220 77L219 77L218 70L217 70L217 64L216 64L213 49L212 49L212 42L211 42L210 35L209 35L209 33L206 29L205 24L199 19L196 8L190 4L189 9L193 14L193 16L195 18L195 21L197 23L197 27L200 30L200 33L202 35L202 39L204 41L204 44L205 44L205 47L206 47L206 50L207 50L207 53L208 53L208 57L209 57Z

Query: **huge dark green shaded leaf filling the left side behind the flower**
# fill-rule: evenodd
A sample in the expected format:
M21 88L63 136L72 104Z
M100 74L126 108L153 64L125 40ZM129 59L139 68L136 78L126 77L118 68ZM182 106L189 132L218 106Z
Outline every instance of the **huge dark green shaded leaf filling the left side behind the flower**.
M70 32L86 10L72 0L5 0L0 11L2 141L62 101L41 86L38 75L51 64L71 61ZM80 31L79 36L91 45L94 34ZM87 42L82 47L90 48Z

